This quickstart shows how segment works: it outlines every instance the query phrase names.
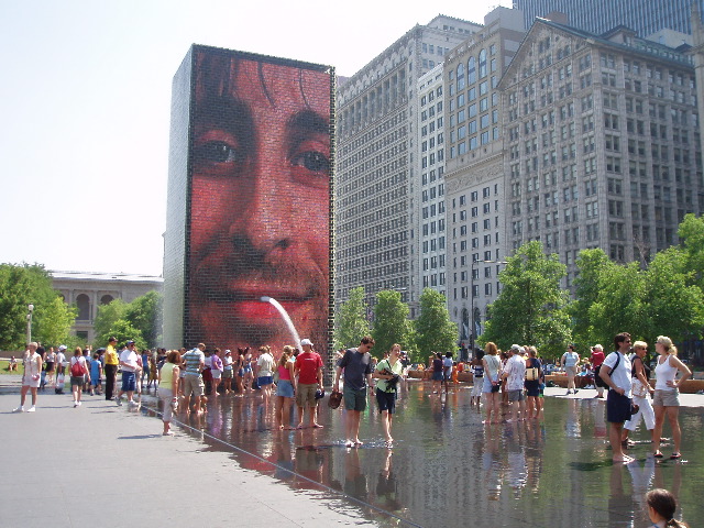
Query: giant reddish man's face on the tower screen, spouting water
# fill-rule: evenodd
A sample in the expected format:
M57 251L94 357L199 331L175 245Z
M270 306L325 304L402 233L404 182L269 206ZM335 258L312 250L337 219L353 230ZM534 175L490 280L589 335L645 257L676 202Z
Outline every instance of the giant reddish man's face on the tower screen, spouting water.
M196 53L186 334L323 351L330 284L331 82L322 67Z

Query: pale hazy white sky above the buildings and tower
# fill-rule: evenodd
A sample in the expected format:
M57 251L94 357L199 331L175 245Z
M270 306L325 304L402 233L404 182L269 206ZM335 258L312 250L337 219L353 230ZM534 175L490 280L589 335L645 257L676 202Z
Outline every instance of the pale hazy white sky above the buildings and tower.
M193 43L350 76L510 1L0 0L0 262L161 275L172 78Z

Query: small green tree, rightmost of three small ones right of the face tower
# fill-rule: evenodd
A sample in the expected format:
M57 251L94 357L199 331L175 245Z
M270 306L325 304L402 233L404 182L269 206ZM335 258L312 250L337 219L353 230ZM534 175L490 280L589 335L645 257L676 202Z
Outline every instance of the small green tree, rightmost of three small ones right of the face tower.
M417 350L425 356L431 351L454 352L458 341L458 326L450 320L444 295L432 288L425 288L420 295L420 315L413 322ZM411 361L424 361L411 358Z

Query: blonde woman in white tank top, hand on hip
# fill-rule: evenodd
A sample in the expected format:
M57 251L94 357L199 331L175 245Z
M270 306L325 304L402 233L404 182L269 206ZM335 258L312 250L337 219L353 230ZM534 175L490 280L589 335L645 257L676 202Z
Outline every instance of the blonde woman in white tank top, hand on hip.
M660 437L662 436L662 425L667 414L668 421L672 428L672 443L674 443L674 451L672 451L670 459L675 460L682 458L682 453L680 453L682 432L678 420L678 415L680 414L679 386L692 375L692 372L680 361L676 346L672 344L672 340L667 336L658 336L656 351L659 355L656 365L656 393L652 398L652 406L656 410L653 457L656 459L662 458ZM678 371L682 373L680 380L675 380Z

